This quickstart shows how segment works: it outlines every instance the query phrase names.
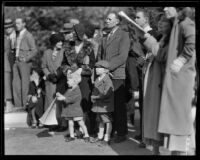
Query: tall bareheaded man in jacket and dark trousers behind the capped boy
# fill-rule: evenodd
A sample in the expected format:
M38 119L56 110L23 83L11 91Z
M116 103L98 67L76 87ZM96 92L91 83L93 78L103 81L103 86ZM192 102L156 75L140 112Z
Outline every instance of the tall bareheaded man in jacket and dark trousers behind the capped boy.
M116 13L110 13L105 22L111 32L103 38L101 59L109 62L109 70L113 75L112 81L115 89L113 133L115 131L117 133L114 142L120 143L126 140L128 132L125 106L125 64L130 48L130 39L128 32L119 26L120 17Z

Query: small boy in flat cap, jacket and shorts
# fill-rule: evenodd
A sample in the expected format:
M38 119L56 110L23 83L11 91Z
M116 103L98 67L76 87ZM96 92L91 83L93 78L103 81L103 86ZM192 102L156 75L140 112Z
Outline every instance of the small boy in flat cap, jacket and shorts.
M99 118L98 137L91 142L99 142L102 145L110 144L110 134L112 131L112 116L114 111L114 87L109 77L109 64L107 61L99 61L95 64L98 78L94 82L94 89L91 100L93 102L92 111L97 113ZM106 134L104 127L106 124Z

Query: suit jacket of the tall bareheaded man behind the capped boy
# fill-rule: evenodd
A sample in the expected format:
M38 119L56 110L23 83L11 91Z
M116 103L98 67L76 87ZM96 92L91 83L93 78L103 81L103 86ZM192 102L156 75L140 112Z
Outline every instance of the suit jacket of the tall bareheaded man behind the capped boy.
M109 62L113 79L125 79L125 66L130 49L128 32L119 27L109 39L104 37L101 44L101 59Z

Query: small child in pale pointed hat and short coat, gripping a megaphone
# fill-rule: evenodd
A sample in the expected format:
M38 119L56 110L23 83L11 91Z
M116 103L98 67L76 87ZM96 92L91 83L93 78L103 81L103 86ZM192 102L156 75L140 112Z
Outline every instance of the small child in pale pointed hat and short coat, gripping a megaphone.
M85 142L89 142L89 135L87 127L83 121L83 111L80 106L82 96L78 84L81 81L81 75L80 75L81 71L82 69L80 68L77 71L68 74L67 83L69 89L66 91L64 95L61 95L58 92L56 93L57 100L64 101L66 103L66 106L63 108L61 114L61 117L64 117L66 120L68 120L70 137L67 136L65 137L66 142L75 140L74 121L77 121L79 126L82 128L84 132L83 139L85 140Z

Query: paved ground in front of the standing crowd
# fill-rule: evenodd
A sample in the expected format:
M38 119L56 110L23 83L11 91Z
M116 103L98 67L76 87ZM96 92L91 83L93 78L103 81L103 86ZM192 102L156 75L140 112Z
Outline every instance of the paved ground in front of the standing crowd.
M136 126L129 127L128 140L99 147L97 144L83 140L65 142L64 132L49 135L46 128L31 129L26 123L26 113L5 114L5 155L151 155L146 148L139 148L133 139L138 130L138 114Z

